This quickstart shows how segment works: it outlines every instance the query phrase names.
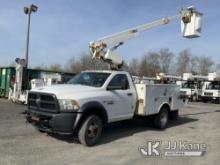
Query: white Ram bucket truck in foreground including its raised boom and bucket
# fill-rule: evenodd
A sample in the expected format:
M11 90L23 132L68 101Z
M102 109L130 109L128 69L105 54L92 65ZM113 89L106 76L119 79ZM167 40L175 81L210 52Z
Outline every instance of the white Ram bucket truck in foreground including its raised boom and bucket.
M91 41L92 58L117 70L123 65L122 57L116 52L120 46L143 31L174 20L181 20L184 37L200 37L202 13L189 7L181 9L178 15ZM164 129L169 119L177 118L183 105L177 85L133 83L125 71L85 71L68 84L31 90L26 118L41 131L76 134L82 144L92 146L108 123L153 116L154 126Z

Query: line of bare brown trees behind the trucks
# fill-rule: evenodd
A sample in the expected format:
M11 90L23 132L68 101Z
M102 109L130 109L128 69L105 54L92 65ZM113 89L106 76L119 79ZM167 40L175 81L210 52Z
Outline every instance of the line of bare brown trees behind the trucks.
M40 65L36 69L79 73L83 70L109 69L109 66L101 61L91 60L89 54L82 53L77 59L70 58L65 66ZM174 54L168 48L164 48L147 52L140 58L125 61L123 70L129 71L132 75L149 77L154 77L160 72L175 75L182 75L185 72L207 75L209 72L220 72L220 61L215 61L209 56L193 55L188 49Z

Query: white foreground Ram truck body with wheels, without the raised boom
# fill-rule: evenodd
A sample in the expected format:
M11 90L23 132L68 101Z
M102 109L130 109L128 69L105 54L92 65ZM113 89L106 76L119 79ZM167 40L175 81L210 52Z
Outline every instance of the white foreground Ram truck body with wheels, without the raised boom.
M151 115L164 129L183 105L175 84L134 84L125 71L84 71L68 84L31 90L26 119L40 131L75 134L92 146L108 123Z

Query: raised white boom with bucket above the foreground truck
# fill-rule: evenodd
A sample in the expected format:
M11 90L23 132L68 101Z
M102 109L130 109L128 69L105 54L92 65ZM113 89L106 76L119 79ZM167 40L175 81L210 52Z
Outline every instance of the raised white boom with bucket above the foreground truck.
M103 37L89 43L90 52L93 59L103 60L110 63L112 69L118 69L123 65L122 57L116 53L116 49L127 40L137 37L141 32L168 24L174 20L181 20L181 30L183 37L195 38L201 35L202 14L194 7L181 9L175 16L164 17L151 23L136 26L125 31Z

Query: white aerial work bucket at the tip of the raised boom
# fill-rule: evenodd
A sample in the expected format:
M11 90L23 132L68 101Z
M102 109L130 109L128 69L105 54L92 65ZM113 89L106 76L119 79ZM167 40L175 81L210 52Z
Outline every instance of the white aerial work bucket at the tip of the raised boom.
M181 20L181 32L183 37L196 38L201 36L202 31L202 13L195 10L194 7L189 7L189 16L183 17Z

